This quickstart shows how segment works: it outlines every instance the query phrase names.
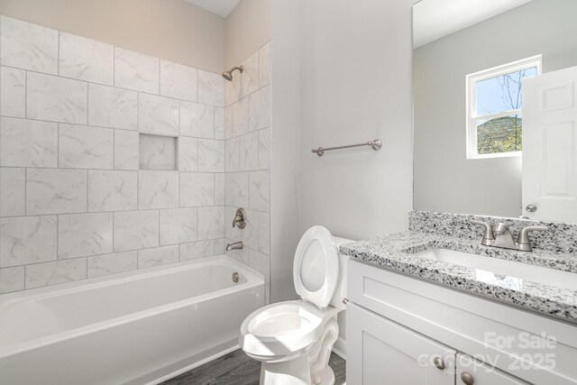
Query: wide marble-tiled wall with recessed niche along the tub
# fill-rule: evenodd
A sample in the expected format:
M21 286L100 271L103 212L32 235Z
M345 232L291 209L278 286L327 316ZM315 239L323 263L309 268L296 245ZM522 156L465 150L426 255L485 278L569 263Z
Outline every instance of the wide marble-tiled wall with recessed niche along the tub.
M0 64L0 293L224 251L219 74L4 16ZM267 225L262 161L236 202Z

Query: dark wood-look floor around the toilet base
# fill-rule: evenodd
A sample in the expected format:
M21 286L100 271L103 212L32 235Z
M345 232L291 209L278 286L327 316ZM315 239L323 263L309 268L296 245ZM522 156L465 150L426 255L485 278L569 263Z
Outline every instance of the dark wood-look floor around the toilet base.
M329 365L334 371L334 385L342 385L345 380L344 360L331 354ZM242 350L228 353L215 361L187 371L162 382L164 385L258 385L261 362L252 360Z

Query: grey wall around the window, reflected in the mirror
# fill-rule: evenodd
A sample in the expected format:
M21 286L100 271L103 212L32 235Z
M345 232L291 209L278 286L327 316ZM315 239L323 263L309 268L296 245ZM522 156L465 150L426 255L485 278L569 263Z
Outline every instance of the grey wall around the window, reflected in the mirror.
M521 158L466 160L465 77L538 54L545 72L577 65L575 14L534 0L415 50L415 209L521 215Z

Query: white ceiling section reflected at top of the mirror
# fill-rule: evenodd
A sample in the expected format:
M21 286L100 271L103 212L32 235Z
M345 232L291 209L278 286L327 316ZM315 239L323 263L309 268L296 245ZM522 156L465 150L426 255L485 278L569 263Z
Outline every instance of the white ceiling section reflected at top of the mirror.
M481 23L531 0L414 0L414 47Z

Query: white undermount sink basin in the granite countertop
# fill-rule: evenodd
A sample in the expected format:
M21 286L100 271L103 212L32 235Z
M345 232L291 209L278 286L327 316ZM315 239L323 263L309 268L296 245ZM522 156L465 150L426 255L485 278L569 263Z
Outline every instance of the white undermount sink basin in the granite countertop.
M439 248L427 249L424 252L417 252L415 255L475 269L478 275L498 274L519 280L531 280L557 288L577 290L577 274L568 271Z

